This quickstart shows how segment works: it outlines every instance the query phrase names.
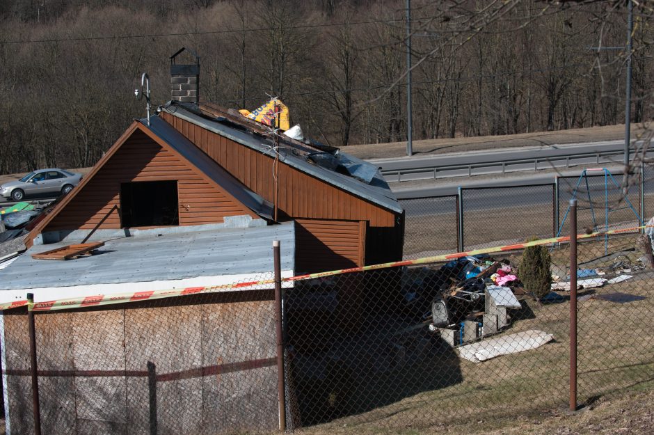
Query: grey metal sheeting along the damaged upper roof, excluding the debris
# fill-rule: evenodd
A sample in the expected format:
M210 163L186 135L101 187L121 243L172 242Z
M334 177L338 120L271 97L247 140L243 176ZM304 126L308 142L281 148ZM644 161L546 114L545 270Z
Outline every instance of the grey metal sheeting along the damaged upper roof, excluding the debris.
M276 153L273 150L274 143L271 139L257 134L256 132L251 131L245 126L234 125L232 122L225 120L222 122L221 118L216 118L216 120L210 120L203 116L199 116L192 111L189 111L184 108L182 104L177 104L177 102L168 102L166 106L162 106L161 110L170 113L171 115L191 122L195 125L198 125L204 129L207 129L216 134L220 134L232 141L245 145L248 148L252 148L258 152L275 157ZM153 117L154 118L154 117ZM240 128L239 128L240 127ZM294 148L294 145L287 143L289 148ZM345 153L342 153L345 154ZM370 165L367 161L363 161L351 155L346 155L347 158L352 162L352 164L359 164L362 166ZM335 187L343 189L344 191L349 191L359 198L369 200L376 205L380 205L386 209L390 209L393 212L401 213L402 207L397 202L394 193L388 187L388 183L384 180L381 172L376 170L374 177L369 184L361 182L354 177L344 175L342 173L337 173L335 171L330 171L327 168L322 166L314 165L306 161L303 157L298 157L294 155L293 152L281 153L280 159L289 166L302 171L303 173L308 173L314 177L324 180L325 182L332 184Z

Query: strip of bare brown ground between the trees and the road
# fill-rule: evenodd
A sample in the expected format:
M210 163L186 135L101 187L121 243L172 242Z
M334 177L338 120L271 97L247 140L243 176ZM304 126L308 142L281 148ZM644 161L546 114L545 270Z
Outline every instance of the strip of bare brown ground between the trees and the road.
M643 134L643 132L644 128L640 125L632 125L632 139L637 139ZM446 152L494 150L496 148L614 141L624 139L624 137L624 125L608 125L605 127L559 130L557 132L534 132L503 136L477 136L413 141L413 152L415 155L445 154ZM404 157L406 156L406 141L350 145L344 147L343 150L344 152L359 157L360 159Z

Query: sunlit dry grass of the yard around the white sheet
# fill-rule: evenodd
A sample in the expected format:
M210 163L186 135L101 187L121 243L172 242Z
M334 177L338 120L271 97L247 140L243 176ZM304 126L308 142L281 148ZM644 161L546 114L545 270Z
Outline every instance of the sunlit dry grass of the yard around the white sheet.
M635 235L614 237L609 250L634 246ZM580 244L580 259L591 260L604 253L603 240ZM634 261L641 253L628 257ZM568 258L567 246L552 253L555 261ZM598 260L596 267L609 267L612 258ZM504 333L541 329L555 335L555 342L539 349L502 356L484 363L456 360L460 381L442 388L424 390L372 411L338 418L301 430L303 434L518 434L566 432L580 427L593 433L597 428L589 416L611 420L614 404L634 404L621 397L642 397L654 404L653 271L605 285L583 294L623 292L646 296L630 303L588 299L578 305L579 403L596 409L571 415L568 403L569 304L527 301L513 325ZM437 351L433 347L429 351ZM445 358L443 359L445 362ZM452 367L447 367L449 370ZM446 367L441 367L446 370ZM407 378L409 379L409 378ZM413 378L412 378L413 379ZM630 417L639 423L639 411ZM651 413L649 418L651 418ZM614 421L621 427L621 420ZM594 429L593 429L594 427ZM643 427L646 424L643 423ZM563 428L563 429L561 429ZM649 430L649 429L648 429ZM585 432L580 432L585 433ZM650 433L650 432L633 432Z

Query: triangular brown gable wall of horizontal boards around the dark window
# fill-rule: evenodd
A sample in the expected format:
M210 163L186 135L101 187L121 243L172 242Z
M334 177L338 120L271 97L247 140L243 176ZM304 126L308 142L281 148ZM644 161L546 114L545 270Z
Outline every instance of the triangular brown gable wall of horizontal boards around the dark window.
M44 231L92 229L98 224L100 229L120 228L120 183L163 180L178 181L180 226L222 222L223 216L257 217L184 159L136 130Z

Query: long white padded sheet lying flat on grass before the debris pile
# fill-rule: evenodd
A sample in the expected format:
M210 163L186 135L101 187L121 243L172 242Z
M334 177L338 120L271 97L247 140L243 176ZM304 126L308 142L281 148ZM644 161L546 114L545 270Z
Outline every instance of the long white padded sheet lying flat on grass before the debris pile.
M552 340L554 335L531 329L461 346L458 348L458 355L473 363L481 363L496 356L536 349Z

